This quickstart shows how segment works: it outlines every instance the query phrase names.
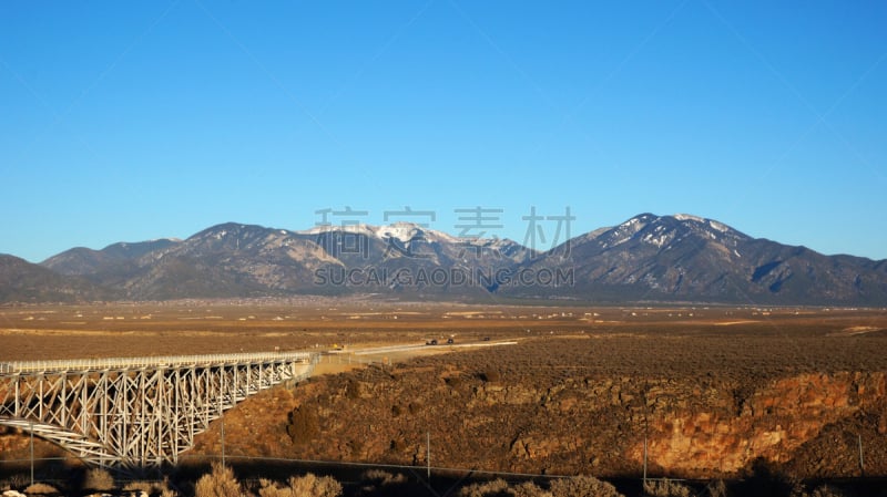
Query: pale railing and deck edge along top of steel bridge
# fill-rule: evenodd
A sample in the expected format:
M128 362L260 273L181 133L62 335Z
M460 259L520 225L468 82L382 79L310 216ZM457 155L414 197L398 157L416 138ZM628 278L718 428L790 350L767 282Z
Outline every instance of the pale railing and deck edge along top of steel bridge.
M242 352L235 354L153 355L141 358L61 359L0 363L0 374L67 371L133 370L142 367L217 366L268 362L315 362L310 352Z

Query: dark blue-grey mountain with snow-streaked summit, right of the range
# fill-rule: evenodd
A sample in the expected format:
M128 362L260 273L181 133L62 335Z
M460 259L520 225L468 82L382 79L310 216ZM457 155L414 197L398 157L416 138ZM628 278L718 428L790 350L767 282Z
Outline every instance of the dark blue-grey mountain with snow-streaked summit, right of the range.
M887 303L887 261L824 256L687 215L642 214L524 267L542 268L573 271L574 284L551 293L590 300ZM512 293L542 297L532 288Z

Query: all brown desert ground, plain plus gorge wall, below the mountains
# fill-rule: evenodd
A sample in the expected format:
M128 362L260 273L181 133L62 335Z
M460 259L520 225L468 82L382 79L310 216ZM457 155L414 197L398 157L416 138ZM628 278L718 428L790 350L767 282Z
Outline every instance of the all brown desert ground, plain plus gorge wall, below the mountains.
M0 308L0 362L271 350L324 355L309 380L226 413L228 457L424 467L430 445L435 467L478 475L636 478L646 454L652 476L887 476L885 309L358 298ZM184 456L217 456L221 427ZM27 435L0 432L0 459L28 451Z

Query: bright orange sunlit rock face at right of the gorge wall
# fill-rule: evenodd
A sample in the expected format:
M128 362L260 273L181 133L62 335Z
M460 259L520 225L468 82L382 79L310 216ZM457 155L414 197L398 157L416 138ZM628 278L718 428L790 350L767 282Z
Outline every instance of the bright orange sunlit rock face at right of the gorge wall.
M686 473L734 473L758 457L788 463L825 427L860 412L877 413L876 431L885 435L886 387L884 373L801 374L773 381L747 398L712 395L715 402L702 410L653 410L648 458ZM629 455L642 460L643 444Z

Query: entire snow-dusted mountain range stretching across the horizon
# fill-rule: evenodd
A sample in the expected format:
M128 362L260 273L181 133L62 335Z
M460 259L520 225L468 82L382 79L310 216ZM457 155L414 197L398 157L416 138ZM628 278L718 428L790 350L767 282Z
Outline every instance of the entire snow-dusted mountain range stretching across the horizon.
M0 255L0 302L293 294L479 301L887 304L887 260L825 256L696 216L642 214L548 251L419 225L226 222L185 240Z

